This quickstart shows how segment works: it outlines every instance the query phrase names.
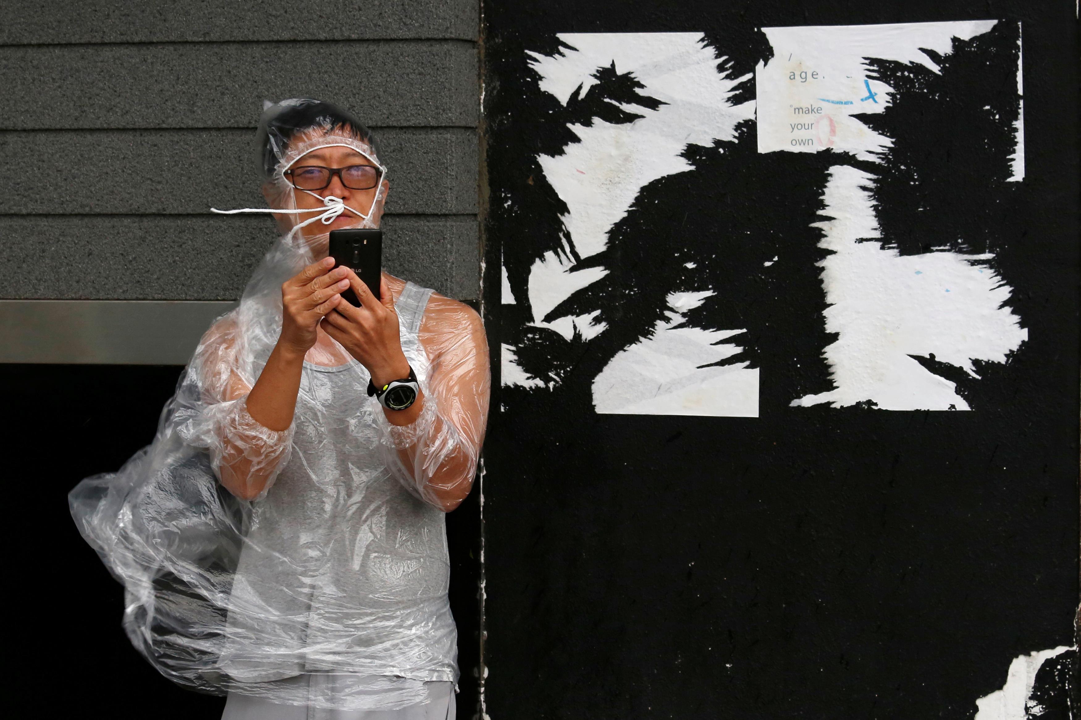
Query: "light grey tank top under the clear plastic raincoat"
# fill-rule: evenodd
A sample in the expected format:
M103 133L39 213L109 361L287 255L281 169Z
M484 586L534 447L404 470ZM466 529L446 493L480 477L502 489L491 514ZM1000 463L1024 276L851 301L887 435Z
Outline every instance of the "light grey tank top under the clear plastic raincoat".
M406 283L395 303L418 377L428 371L417 330L430 294ZM252 505L229 598L219 667L238 680L457 680L444 514L381 459L368 380L356 361L304 364L292 457Z

